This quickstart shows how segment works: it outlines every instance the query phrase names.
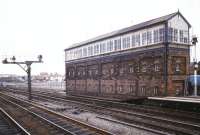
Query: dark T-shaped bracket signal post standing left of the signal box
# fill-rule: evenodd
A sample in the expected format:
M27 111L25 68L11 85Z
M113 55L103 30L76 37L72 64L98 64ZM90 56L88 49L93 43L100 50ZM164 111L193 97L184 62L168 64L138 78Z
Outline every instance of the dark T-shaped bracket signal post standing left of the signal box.
M32 100L32 94L31 94L31 65L33 63L42 63L42 55L38 55L38 61L24 61L24 62L16 62L15 56L11 58L11 62L5 58L2 63L3 64L17 64L21 69L23 69L27 73L28 77L28 99ZM25 66L23 66L25 65Z

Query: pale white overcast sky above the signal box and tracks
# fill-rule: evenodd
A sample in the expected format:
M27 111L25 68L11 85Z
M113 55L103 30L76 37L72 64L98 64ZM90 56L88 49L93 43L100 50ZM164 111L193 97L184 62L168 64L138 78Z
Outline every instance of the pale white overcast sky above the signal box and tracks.
M42 54L44 63L34 64L33 74L64 74L64 49L71 44L178 9L192 25L191 35L200 37L200 0L0 0L0 60ZM0 74L25 73L0 64Z

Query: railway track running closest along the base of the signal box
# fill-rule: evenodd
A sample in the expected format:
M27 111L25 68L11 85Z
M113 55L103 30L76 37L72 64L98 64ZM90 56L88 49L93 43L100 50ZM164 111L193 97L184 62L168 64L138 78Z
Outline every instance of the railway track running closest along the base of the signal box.
M12 92L16 93L26 93L25 91L16 90L16 89L7 89ZM149 107L149 106L143 106L143 105L135 105L135 104L128 104L128 103L121 103L116 101L105 101L98 98L88 98L85 96L77 97L77 96L59 96L57 93L56 95L52 92L43 92L43 91L37 91L33 90L33 94L36 96L43 96L44 98L50 98L55 100L63 100L68 101L71 103L79 103L81 105L91 105L91 106L102 106L102 107L112 107L116 109L121 109L125 111L132 111L132 112L139 112L139 113L145 113L148 115L159 115L159 116L165 116L165 117L171 117L173 119L184 119L184 121L193 121L199 123L200 117L199 113L192 113L192 112L186 112L186 111L179 111L179 110L172 110L172 109L164 109L164 108L158 108L158 107Z

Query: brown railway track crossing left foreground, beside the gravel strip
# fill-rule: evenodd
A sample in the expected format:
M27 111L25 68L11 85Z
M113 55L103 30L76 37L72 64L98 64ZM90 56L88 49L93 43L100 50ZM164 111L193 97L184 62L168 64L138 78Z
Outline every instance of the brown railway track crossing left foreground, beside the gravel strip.
M6 108L14 117L23 116L21 120L18 120L31 134L112 135L105 130L5 94L0 94L0 102L2 103L1 106Z

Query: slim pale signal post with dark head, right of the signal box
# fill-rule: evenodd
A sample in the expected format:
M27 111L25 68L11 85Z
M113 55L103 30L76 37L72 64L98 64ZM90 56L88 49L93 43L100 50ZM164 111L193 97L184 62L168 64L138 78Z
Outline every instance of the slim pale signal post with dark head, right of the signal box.
M197 69L198 69L198 63L197 63L197 57L196 57L196 43L198 42L197 37L194 36L192 38L192 44L195 47L195 58L194 58L194 94L193 96L197 96Z

